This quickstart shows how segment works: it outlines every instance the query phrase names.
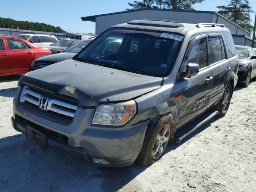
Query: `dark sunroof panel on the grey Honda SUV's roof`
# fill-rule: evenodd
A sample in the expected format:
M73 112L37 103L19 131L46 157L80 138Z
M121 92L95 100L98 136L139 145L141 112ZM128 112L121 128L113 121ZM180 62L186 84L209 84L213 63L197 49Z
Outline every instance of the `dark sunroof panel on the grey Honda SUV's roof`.
M133 20L128 22L131 25L141 25L141 26L155 26L155 27L184 27L183 24L177 23L175 21L165 21L165 20Z

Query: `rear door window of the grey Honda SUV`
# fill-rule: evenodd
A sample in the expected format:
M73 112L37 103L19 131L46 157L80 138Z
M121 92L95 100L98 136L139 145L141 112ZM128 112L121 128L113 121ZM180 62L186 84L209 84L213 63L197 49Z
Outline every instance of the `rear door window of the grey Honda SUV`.
M210 51L210 64L222 60L222 50L220 37L208 38L209 51Z

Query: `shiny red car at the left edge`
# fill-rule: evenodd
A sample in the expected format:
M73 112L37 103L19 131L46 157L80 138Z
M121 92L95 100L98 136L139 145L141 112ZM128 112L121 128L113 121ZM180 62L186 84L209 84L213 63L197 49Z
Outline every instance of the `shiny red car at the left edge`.
M35 58L49 54L49 49L24 39L0 36L0 76L24 74Z

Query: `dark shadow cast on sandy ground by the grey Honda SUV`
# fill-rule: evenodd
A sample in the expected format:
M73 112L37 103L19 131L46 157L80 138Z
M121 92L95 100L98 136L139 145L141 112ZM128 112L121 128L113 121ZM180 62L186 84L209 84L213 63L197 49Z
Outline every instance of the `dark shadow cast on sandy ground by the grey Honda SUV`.
M212 118L182 142L168 144L165 154L176 150L218 119ZM29 189L36 186L46 191L54 188L54 191L113 192L128 185L135 187L139 192L142 191L142 186L135 178L149 168L149 166L142 167L137 164L123 168L89 165L50 148L42 149L27 141L24 134L0 139L0 151L0 175L4 190L27 189L30 191ZM20 179L13 180L14 175Z

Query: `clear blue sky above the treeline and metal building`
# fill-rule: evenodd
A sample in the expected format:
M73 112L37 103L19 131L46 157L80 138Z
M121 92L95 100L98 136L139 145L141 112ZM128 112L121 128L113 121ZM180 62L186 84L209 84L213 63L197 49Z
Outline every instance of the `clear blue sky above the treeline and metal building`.
M11 2L11 3L10 3ZM125 11L133 0L0 0L0 17L15 20L44 22L67 32L95 32L95 22L82 21L81 17ZM196 10L218 11L216 6L226 5L226 0L205 0L193 5ZM256 0L249 0L256 10ZM252 25L255 13L251 14Z

